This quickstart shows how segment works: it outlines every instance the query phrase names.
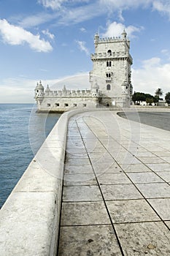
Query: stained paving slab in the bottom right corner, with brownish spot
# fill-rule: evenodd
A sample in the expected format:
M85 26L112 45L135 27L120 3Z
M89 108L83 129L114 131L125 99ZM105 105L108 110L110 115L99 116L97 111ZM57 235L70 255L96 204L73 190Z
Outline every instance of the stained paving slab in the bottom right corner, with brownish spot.
M170 255L170 233L163 222L115 224L125 256Z

